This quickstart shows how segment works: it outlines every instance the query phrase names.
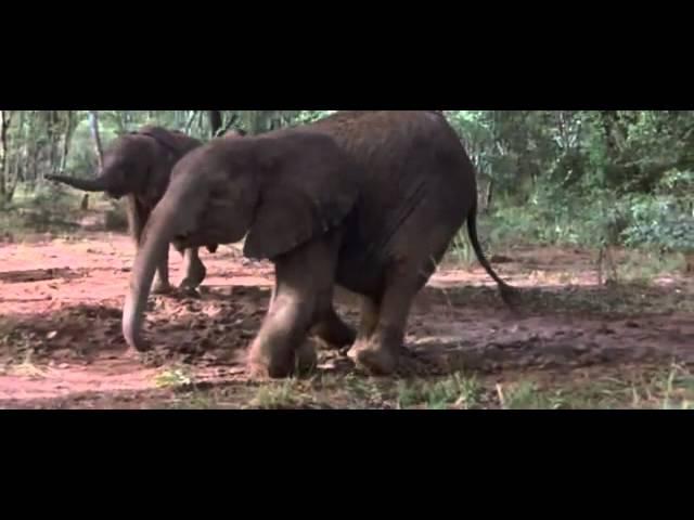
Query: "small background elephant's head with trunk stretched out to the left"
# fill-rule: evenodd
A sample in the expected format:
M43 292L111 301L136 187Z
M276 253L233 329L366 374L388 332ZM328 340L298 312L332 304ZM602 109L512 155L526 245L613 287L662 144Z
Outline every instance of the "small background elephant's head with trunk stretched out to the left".
M86 192L104 192L113 198L131 193L141 194L147 191L152 182L162 183L160 179L153 180L153 176L165 178L163 171L170 169L176 160L200 144L200 141L188 135L145 126L137 132L119 136L108 146L103 156L103 168L97 178L46 176L46 179Z

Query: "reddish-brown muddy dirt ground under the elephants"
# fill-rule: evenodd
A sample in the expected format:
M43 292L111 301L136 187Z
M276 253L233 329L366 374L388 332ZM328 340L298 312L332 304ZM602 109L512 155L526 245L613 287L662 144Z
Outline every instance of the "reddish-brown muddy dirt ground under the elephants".
M502 394L504 381L526 377L551 385L694 366L692 278L605 286L596 284L590 252L517 248L503 257L493 258L494 266L523 288L516 312L477 264L442 265L420 295L407 337L422 360L417 380L473 374ZM360 375L342 352L321 351L309 382L280 382L270 392L249 381L243 356L267 309L272 268L234 247L202 258L208 272L202 297L151 297L145 335L155 350L136 358L125 355L120 336L133 260L128 237L82 233L0 244L0 407L254 407L277 400L295 407L397 407L402 401L402 380ZM174 251L170 259L177 284L181 261ZM356 324L355 297L340 291L337 302Z

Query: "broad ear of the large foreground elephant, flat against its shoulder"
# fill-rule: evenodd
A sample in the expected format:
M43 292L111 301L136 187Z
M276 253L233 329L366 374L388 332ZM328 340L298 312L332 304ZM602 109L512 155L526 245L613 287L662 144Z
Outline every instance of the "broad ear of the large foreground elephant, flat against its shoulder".
M259 204L244 255L272 260L339 225L357 202L359 176L327 135L261 139Z

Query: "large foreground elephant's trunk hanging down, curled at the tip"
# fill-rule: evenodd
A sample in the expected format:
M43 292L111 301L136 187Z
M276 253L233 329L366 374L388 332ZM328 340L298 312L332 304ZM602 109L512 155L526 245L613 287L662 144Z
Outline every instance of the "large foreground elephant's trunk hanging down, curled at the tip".
M123 309L123 335L130 348L141 352L149 350L140 337L140 330L154 273L176 234L176 213L166 211L166 208L158 209L152 213L144 230Z

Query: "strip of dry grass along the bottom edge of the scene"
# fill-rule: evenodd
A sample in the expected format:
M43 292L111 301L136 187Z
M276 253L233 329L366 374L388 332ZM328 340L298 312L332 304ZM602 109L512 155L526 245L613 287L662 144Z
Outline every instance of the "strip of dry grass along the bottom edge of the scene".
M542 375L503 384L464 374L408 381L355 377L288 379L255 389L242 385L192 391L175 407L254 410L694 410L694 374L680 366L617 378L566 377L547 382Z

